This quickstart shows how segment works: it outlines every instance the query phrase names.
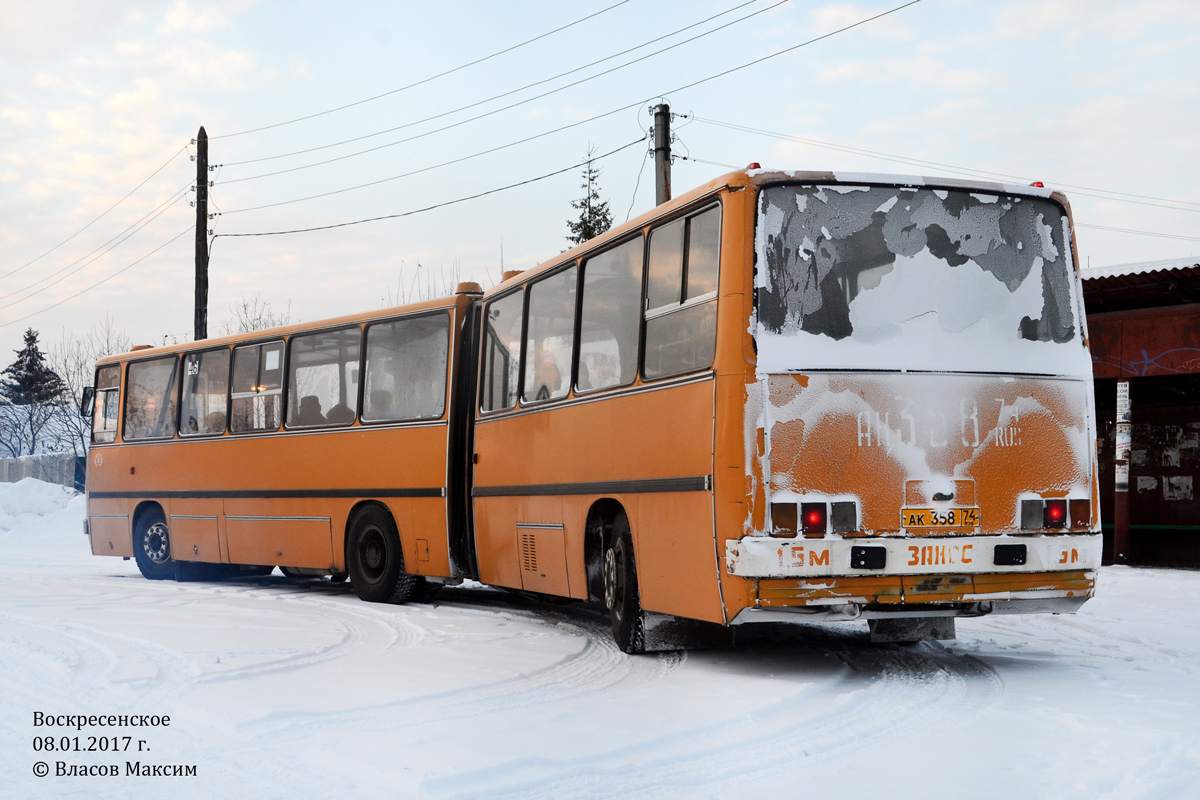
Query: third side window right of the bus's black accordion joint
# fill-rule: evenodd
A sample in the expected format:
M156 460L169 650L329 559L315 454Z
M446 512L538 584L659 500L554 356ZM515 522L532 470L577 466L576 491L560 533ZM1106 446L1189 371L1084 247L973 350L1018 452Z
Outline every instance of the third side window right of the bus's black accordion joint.
M637 375L642 237L583 263L576 390L628 386Z

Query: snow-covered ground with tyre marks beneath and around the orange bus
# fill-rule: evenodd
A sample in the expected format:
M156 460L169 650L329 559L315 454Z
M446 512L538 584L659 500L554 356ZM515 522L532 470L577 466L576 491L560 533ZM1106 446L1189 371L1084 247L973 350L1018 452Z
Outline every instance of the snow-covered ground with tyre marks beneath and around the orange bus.
M1075 616L960 620L944 645L779 626L629 657L595 608L479 587L377 606L277 575L144 581L88 553L82 517L0 485L4 796L1200 798L1200 572L1108 567ZM35 751L48 734L132 744Z

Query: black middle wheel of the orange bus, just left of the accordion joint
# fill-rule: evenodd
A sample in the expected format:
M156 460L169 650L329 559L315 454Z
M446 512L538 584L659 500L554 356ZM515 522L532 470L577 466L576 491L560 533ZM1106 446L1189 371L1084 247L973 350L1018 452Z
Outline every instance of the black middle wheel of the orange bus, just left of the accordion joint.
M365 505L350 518L346 566L350 585L371 603L402 603L413 594L416 576L404 571L404 553L391 515Z

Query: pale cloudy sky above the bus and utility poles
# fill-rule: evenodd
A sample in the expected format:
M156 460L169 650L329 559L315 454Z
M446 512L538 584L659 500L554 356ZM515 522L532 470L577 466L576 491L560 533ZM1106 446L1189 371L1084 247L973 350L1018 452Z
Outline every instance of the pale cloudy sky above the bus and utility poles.
M689 115L677 193L751 161L1004 175L1070 197L1084 265L1200 254L1194 0L922 0L686 88L901 5L776 2L0 0L0 365L26 326L48 349L106 314L137 342L191 336L202 125L223 164L211 335L254 293L317 320L414 281L490 285L502 253L533 266L566 246L580 170L401 218L228 234L400 215L563 170L589 145L631 145L599 162L601 192L618 222L648 210L634 143L659 97Z

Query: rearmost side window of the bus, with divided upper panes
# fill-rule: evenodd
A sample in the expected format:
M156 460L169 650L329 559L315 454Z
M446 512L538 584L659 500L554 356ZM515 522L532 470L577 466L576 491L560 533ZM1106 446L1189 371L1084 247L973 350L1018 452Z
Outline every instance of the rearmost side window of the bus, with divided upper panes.
M721 209L712 206L650 233L642 374L706 369L716 353Z

